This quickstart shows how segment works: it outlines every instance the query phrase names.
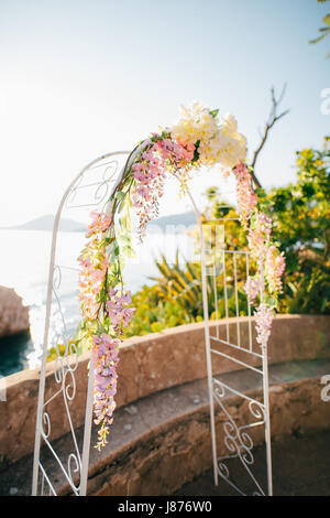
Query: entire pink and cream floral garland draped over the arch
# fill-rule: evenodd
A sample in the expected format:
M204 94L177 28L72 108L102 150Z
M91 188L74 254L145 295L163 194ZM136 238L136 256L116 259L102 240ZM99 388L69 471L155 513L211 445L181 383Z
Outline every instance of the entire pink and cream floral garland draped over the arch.
M81 322L76 338L82 347L91 349L99 450L107 444L113 421L119 345L134 312L129 307L131 293L124 291L122 280L123 257L133 252L130 208L139 217L142 239L146 224L158 213L167 174L178 179L185 190L193 169L219 164L227 174L233 171L240 218L249 233L251 253L260 270L265 265L264 272L248 279L245 290L250 302L254 302L264 277L272 299L263 298L256 310L257 342L264 345L271 332L275 299L282 289L284 256L271 241L271 219L257 209L257 196L244 163L245 138L238 132L233 116L220 123L218 112L198 102L190 108L182 107L182 116L174 127L153 133L135 148L105 211L91 213L86 235L89 240L78 259ZM118 226L114 217L120 214L123 215Z

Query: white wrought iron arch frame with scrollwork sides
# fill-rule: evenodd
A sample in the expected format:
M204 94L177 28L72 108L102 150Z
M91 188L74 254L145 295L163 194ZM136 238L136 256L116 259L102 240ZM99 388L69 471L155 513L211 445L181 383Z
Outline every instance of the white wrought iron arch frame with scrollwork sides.
M56 495L56 489L53 486L41 460L41 445L42 440L48 446L52 455L58 462L61 470L64 473L65 478L67 479L68 484L70 485L73 493L77 496L85 496L87 494L87 482L88 482L88 467L89 467L89 450L90 450L90 439L91 439L91 424L92 424L92 400L94 400L94 368L92 368L92 360L90 358L90 368L89 368L89 377L88 377L88 387L87 387L87 400L86 400L86 412L85 412L85 427L84 427L84 440L82 440L82 450L81 453L79 451L76 438L75 438L75 430L69 414L68 408L68 400L73 400L75 396L75 369L77 367L77 363L74 366L70 365L68 361L68 356L73 353L77 353L73 346L67 344L64 357L61 357L58 350L58 361L59 361L59 369L55 370L55 379L56 382L61 385L61 388L55 395L53 395L47 401L44 400L45 397L45 379L46 379L46 360L47 360L47 350L48 350L48 337L50 337L50 325L51 325L51 312L52 312L52 304L53 304L53 296L55 295L55 301L61 309L61 301L56 295L56 273L61 278L61 267L55 263L56 257L56 245L57 245L57 234L59 229L61 216L65 205L68 201L73 201L77 191L85 188L86 186L95 188L95 203L87 204L86 206L94 206L99 205L109 193L109 183L110 181L103 177L103 180L95 183L89 183L88 185L84 185L82 180L86 173L91 172L95 168L102 166L102 162L106 160L111 160L116 162L116 157L127 158L123 168L117 175L117 179L112 186L112 192L114 191L118 183L121 181L123 173L130 163L130 161L134 160L134 152L138 148L135 148L132 152L129 151L117 151L103 154L96 160L91 161L88 165L86 165L80 173L74 179L74 181L69 184L67 190L65 191L62 201L59 203L55 220L53 227L53 236L52 236L52 246L51 246L51 259L50 259L50 270L48 270L48 283L47 283L47 295L46 295L46 316L45 316L45 327L44 327L44 339L43 339L43 352L41 358L41 373L40 373L40 390L38 390L38 401L37 401L37 410L36 410L36 431L35 431L35 442L34 442L34 460L33 460L33 478L32 478L32 495L38 494L38 485L41 485L41 493L44 494L44 484L46 483L48 486L48 494ZM107 165L103 164L103 165ZM117 171L116 171L117 172ZM113 180L113 176L110 179ZM102 192L103 191L103 192ZM102 192L102 194L100 194ZM111 194L112 194L111 192ZM208 393L209 393L209 404L210 404L210 428L211 428L211 444L212 444L212 462L213 462L213 479L215 484L218 485L219 477L224 479L229 483L232 487L234 487L240 494L244 494L242 489L240 489L231 479L229 474L229 468L226 465L226 461L232 457L238 457L242 465L245 467L248 474L253 479L256 489L254 494L264 495L265 492L262 489L258 482L255 479L254 475L251 472L251 464L253 464L253 455L251 450L253 447L253 442L250 435L248 434L246 430L250 428L254 428L256 425L263 424L265 428L265 444L266 444L266 470L267 470L267 494L273 494L273 482L272 482L272 454L271 454L271 427L270 427L270 403L268 403L268 364L267 364L267 344L262 345L262 352L256 353L253 350L252 345L252 320L251 320L251 309L249 305L249 345L248 347L243 346L240 342L240 315L239 311L237 313L237 344L233 344L229 339L229 324L227 323L227 339L223 341L219 338L218 331L217 335L213 336L210 332L210 320L209 320L209 307L208 307L208 294L207 294L207 276L209 272L207 271L206 265L206 250L205 250L205 236L204 236L204 225L201 220L201 214L194 201L194 197L189 190L187 190L187 194L190 198L190 202L194 207L195 216L197 226L199 228L199 238L200 238L200 260L201 260L201 285L202 285L202 303L204 303L204 316L205 316L205 345L206 345L206 360L207 360L207 380L208 380ZM224 219L218 219L219 224L222 224ZM237 255L243 253L246 259L246 276L249 274L249 251L230 251L230 250L221 250L222 253L222 272L223 272L223 283L224 283L224 305L226 305L226 316L228 317L228 300L227 300L227 279L226 279L226 258L229 253L232 256L232 260L234 263L234 270L237 265ZM213 280L216 279L216 259L213 262ZM261 274L263 279L263 269L261 269ZM234 274L235 277L235 274ZM61 280L59 280L61 282ZM235 282L235 295L237 293L237 277L234 278ZM263 282L262 282L263 284ZM217 294L217 287L215 282L215 303L216 303L216 311L218 312L217 304L218 304L218 294ZM263 288L261 290L261 299L263 299ZM238 310L238 299L237 299L237 310ZM62 315L63 317L63 315ZM63 317L64 321L64 317ZM64 322L65 325L65 322ZM232 350L244 350L250 355L251 359L257 357L261 360L261 368L255 367L250 364L249 361L243 363L238 360L234 356L230 356L221 350L221 345L226 345L230 347ZM218 347L218 348L217 348ZM240 390L234 387L230 387L226 385L223 381L219 380L218 378L213 377L212 374L212 355L220 355L227 359L232 359L240 366L244 366L248 369L252 369L258 375L262 376L263 379L263 402L257 401L256 399L250 398ZM66 379L69 377L72 380L72 386L66 385ZM72 393L69 392L72 389ZM226 391L229 391L233 395L240 396L249 402L249 410L251 411L252 416L256 419L255 422L248 425L238 427L234 419L228 412L226 406L222 402L222 398L226 395ZM51 442L48 441L48 435L51 432L51 418L46 411L46 406L57 396L63 395L67 417L69 420L70 432L73 434L73 440L75 444L75 453L70 453L67 460L67 468L65 468L63 462L61 461L59 456L53 449ZM216 433L216 413L215 413L215 403L220 404L221 410L228 418L228 421L224 422L224 442L229 450L229 455L220 456L217 455L217 433ZM74 478L72 476L72 464L75 464L74 471L75 473L79 472L79 484L75 485ZM41 475L41 481L40 481Z

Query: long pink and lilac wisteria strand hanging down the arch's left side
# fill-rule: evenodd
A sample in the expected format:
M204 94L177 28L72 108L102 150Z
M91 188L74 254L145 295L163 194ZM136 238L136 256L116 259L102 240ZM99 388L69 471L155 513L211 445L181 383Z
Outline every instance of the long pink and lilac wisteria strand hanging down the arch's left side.
M134 310L128 307L131 294L119 293L111 285L113 278L109 276L110 261L107 250L113 238L107 237L107 231L112 217L106 213L92 212L91 218L86 234L89 241L78 258L79 300L84 327L87 328L87 337L89 336L91 343L95 370L95 422L101 424L96 447L100 449L107 443L116 408L113 398L117 392L119 337L123 333L123 327L128 326ZM118 283L119 280L114 282ZM107 330L108 333L101 331L100 334L95 334L96 322L98 322L97 327Z

